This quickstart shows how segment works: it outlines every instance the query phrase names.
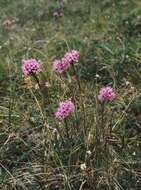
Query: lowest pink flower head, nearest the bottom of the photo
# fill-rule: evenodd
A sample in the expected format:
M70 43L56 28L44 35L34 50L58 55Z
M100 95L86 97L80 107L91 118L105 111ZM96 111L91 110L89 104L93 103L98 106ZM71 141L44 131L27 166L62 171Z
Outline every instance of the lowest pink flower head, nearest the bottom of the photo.
M59 120L63 120L69 116L70 113L75 111L75 106L73 102L70 100L66 100L65 102L60 102L57 112L55 116Z

